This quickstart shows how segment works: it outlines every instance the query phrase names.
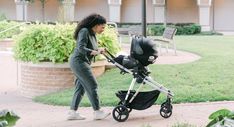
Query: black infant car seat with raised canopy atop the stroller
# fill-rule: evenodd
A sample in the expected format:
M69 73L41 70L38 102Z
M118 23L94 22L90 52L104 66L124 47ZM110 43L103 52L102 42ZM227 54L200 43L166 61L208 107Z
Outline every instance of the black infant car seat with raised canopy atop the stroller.
M153 41L135 36L131 42L130 55L119 55L114 58L114 61L133 72L148 75L150 72L147 66L153 64L157 57L158 52Z

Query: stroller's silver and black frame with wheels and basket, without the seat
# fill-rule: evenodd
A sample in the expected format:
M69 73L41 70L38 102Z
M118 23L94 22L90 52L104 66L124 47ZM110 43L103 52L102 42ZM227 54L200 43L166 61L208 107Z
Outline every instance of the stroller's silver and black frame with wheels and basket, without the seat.
M160 115L163 118L169 118L172 115L172 97L174 94L163 85L154 81L149 76L150 72L147 67L141 65L134 67L133 69L128 69L117 62L115 60L116 58L109 51L103 55L107 58L108 62L111 62L118 67L122 74L129 73L133 75L128 91L118 91L118 93L116 93L116 96L120 99L118 106L116 106L112 111L112 116L116 121L126 121L132 109L144 110L149 108L157 100L160 93L164 93L167 96L166 101L161 104ZM135 91L133 88L136 83L139 83L140 85ZM154 90L140 92L145 84L150 85Z

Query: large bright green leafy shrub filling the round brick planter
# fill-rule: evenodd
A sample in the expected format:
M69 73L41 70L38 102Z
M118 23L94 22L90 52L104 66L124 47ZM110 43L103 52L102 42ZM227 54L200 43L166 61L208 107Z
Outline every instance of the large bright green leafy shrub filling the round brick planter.
M75 25L36 24L26 28L16 38L15 58L24 62L68 62L76 42L73 39ZM112 53L116 53L116 41L111 29L100 35L100 42L106 43ZM117 35L116 35L117 36Z

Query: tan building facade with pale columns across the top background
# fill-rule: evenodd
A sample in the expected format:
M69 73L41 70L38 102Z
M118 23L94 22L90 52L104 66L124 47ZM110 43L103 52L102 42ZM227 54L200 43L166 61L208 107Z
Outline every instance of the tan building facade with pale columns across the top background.
M197 23L202 31L234 31L234 0L146 0L148 23ZM141 22L142 0L0 0L0 14L10 20L79 21L99 13L108 21Z

